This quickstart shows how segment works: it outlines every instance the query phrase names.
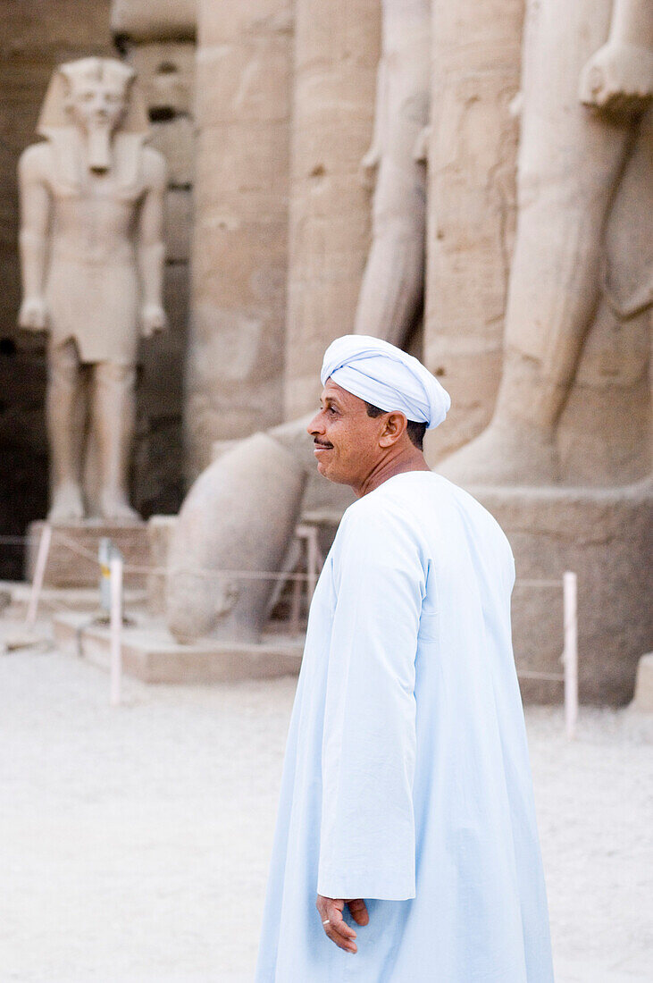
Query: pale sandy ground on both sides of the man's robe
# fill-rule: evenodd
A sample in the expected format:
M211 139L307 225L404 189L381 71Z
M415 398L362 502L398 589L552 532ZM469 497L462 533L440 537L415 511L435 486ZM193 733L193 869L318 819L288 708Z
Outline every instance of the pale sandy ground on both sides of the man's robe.
M92 665L0 657L2 983L252 979L294 690L127 680L111 709ZM556 979L650 983L653 721L527 725Z

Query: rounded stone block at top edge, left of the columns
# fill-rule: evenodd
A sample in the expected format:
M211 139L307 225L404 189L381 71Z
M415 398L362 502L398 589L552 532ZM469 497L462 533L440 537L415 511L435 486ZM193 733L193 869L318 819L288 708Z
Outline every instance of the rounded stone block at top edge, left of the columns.
M191 40L196 0L113 0L111 29L135 41Z

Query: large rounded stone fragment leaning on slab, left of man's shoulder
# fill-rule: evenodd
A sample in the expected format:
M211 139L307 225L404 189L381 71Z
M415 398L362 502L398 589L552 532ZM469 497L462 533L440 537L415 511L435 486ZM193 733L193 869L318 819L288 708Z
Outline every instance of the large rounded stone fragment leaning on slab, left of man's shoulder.
M200 475L168 560L168 627L178 641L258 640L275 585L265 574L282 569L304 482L293 455L265 434L242 440Z

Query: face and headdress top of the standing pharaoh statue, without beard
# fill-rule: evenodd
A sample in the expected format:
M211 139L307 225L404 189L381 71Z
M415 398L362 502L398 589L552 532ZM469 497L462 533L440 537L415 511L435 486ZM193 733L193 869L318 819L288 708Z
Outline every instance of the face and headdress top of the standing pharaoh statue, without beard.
M82 58L59 71L71 122L85 133L117 130L127 113L133 69L114 58Z

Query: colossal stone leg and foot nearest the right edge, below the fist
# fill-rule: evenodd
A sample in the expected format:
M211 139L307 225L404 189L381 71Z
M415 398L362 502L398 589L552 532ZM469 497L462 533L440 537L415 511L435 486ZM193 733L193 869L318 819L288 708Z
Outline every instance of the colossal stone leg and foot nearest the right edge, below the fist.
M630 139L578 99L608 17L606 0L529 4L504 373L490 427L439 468L463 484L559 480L556 425L595 315L603 230Z

